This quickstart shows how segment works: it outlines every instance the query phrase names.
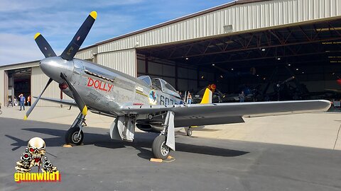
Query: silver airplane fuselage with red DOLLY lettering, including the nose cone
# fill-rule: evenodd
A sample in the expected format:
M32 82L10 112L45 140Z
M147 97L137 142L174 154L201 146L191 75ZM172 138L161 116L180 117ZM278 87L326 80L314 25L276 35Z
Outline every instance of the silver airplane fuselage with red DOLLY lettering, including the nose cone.
M66 61L60 57L49 57L40 61L40 68L63 85L65 81L60 78L62 71L90 110L109 115L124 115L121 108L129 105L173 105L183 102L176 96L163 93L161 89L148 86L141 79L82 59ZM60 87L72 98L67 86Z

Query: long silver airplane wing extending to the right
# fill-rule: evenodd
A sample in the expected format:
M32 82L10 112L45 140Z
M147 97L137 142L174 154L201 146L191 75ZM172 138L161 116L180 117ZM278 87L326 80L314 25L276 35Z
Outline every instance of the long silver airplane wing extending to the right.
M296 112L326 111L328 100L300 100L250 103L210 103L191 105L133 105L122 108L126 114L175 112L175 127L217 125L244 122L242 116L274 115Z

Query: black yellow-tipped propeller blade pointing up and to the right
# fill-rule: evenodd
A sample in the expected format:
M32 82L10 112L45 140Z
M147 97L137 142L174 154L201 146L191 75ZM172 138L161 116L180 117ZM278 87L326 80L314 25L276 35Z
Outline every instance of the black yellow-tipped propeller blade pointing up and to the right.
M97 12L92 11L89 16L87 16L87 19L85 19L84 23L80 26L80 29L78 29L75 37L73 37L70 44L67 45L60 57L67 60L72 60L73 57L75 57L75 54L78 50L80 50L80 46L84 42L85 37L87 37L87 34L89 33L96 18Z

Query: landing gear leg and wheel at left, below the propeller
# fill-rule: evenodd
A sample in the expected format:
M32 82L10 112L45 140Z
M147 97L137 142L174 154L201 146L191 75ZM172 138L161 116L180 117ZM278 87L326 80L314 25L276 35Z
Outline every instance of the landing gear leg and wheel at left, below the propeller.
M76 120L72 123L70 129L68 129L65 134L65 143L73 145L82 144L84 138L82 129L86 125L87 124L85 123L85 115L82 115L82 112L80 112Z

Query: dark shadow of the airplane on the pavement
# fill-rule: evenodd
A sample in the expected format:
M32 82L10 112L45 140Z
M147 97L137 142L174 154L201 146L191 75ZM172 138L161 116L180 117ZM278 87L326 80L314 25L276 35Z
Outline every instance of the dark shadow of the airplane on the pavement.
M55 137L43 138L46 145L48 146L62 146L65 144L64 136L66 130L63 129L50 129L50 128L24 128L23 130L30 132L38 132L42 134L49 134ZM6 134L6 137L13 139L16 143L11 144L12 146L16 146L12 149L12 151L19 149L21 146L26 147L28 140L18 139L11 135ZM157 137L158 134L154 133L144 133L144 132L136 132L134 142L126 142L126 141L116 141L110 139L108 134L95 134L91 132L85 132L84 145L91 145L105 147L109 149L118 149L124 148L126 146L133 146L135 149L139 150L139 157L150 159L153 157L151 152L151 146L153 143L153 139ZM144 149L148 148L148 149ZM205 154L211 156L226 156L226 157L234 157L241 156L244 154L248 154L246 151L237 151L232 149L222 149L213 146L202 146L202 145L194 145L194 144L185 144L185 143L176 143L176 151L188 152L193 154Z

